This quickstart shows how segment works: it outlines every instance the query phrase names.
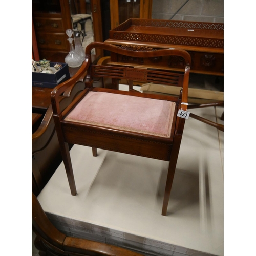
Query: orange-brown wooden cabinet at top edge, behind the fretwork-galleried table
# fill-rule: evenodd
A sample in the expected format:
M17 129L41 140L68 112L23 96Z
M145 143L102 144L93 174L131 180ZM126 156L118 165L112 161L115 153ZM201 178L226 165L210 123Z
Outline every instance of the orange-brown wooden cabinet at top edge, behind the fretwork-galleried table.
M129 18L151 18L152 0L110 0L111 29Z

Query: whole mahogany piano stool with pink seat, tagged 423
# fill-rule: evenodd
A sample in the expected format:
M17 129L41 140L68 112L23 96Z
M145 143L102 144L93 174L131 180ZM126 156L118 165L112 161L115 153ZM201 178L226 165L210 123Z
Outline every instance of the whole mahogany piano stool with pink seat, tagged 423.
M116 53L127 61L127 65L92 65L90 53L94 48ZM178 49L137 50L126 50L100 42L87 46L86 60L81 67L87 70L86 89L65 111L60 109L59 96L70 87L70 82L63 82L52 91L55 127L71 194L74 196L76 186L68 143L90 146L94 156L97 155L96 148L103 148L169 161L162 209L162 215L166 215L185 123L185 119L177 116L177 113L178 110L187 110L190 56ZM184 58L186 67L183 72L169 69L168 63L172 56ZM130 59L136 59L136 65L129 65ZM181 92L179 97L171 97L94 88L93 77L109 77L114 81L127 79L131 88L135 79L161 81L179 86Z

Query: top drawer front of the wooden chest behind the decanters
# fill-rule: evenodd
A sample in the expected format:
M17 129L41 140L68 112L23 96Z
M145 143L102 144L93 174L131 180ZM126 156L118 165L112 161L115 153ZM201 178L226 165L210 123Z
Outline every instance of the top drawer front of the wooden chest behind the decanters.
M63 32L63 23L61 18L34 18L36 31L58 31Z

